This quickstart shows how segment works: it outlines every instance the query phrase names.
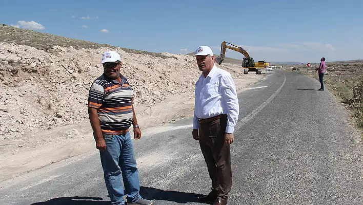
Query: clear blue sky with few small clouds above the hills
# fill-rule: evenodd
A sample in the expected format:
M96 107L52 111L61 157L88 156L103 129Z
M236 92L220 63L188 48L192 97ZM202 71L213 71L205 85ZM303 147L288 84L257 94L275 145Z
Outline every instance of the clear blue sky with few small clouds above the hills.
M2 2L0 23L153 52L187 53L208 45L219 54L227 41L257 61L306 63L363 59L362 8L361 0L21 0ZM26 27L31 21L43 27ZM232 50L226 56L243 58Z

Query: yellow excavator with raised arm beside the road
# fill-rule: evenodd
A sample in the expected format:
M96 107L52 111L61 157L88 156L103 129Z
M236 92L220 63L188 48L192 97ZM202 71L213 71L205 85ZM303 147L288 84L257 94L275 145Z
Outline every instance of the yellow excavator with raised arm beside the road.
M229 44L229 45L226 45ZM253 60L253 58L250 57L250 54L247 52L247 50L245 50L244 48L240 47L240 46L236 46L233 45L231 43L228 42L222 42L221 47L220 47L220 57L216 58L216 62L218 63L218 65L220 65L222 63L223 60L225 60L225 55L226 55L226 51L228 49L237 51L242 53L245 58L243 58L243 63L242 63L242 67L244 67L244 73L247 74L248 71L251 72L256 72L256 74L263 74L265 73L266 68L270 67L270 63L266 62L266 61L258 61L255 62Z

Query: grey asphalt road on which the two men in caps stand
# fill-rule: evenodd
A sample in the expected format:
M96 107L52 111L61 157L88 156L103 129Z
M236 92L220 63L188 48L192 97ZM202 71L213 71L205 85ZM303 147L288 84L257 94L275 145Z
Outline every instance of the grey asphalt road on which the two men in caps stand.
M229 204L363 204L362 146L341 104L295 72L269 71L240 92ZM140 193L154 204L200 204L211 181L192 119L134 142ZM56 152L56 151L55 151ZM0 184L0 204L109 204L97 151Z

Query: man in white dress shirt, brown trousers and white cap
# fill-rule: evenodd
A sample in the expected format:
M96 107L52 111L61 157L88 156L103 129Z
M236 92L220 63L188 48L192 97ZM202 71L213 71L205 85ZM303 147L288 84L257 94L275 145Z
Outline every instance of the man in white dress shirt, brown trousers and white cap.
M194 56L202 73L195 83L192 135L199 140L212 179L212 191L199 201L225 205L232 185L230 144L239 114L236 88L231 74L214 65L208 46L199 46Z

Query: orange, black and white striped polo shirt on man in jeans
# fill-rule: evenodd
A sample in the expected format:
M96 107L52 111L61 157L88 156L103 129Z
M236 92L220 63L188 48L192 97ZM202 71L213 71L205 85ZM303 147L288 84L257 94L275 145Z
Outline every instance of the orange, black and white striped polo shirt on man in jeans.
M91 85L88 107L97 109L103 134L126 134L132 124L132 88L120 74L121 84L103 74Z

